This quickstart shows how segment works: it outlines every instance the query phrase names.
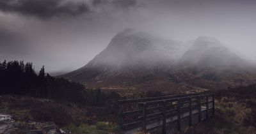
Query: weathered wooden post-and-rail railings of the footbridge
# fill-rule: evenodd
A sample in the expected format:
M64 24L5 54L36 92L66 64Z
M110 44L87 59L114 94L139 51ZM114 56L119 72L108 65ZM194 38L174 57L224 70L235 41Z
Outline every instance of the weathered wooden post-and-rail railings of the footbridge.
M162 133L166 133L166 119L170 119L170 117L177 116L177 120L174 120L177 123L177 130L181 130L181 120L186 118L188 119L189 126L193 125L193 114L198 114L198 121L202 121L202 114L205 113L205 118L208 119L209 116L209 110L212 109L212 116L214 115L214 94L207 93L207 94L185 94L182 95L175 95L179 96L177 98L164 98L164 97L157 97L161 98L163 100L148 100L146 99L136 99L136 100L121 100L120 102L120 108L122 110L119 110L118 117L121 119L118 119L120 123L120 128L124 127L132 127L137 126L141 124L141 128L144 131L144 133L147 133L152 128L156 128L155 126L148 126L150 123L155 123L156 121L160 121L161 124L158 124L162 127ZM170 97L170 96L168 96ZM173 97L173 96L172 96ZM209 99L211 98L211 99ZM138 100L143 100L142 102L139 102ZM136 104L136 107L134 110L125 111L124 103L130 103L138 101ZM209 104L212 105L209 105ZM202 110L202 105L205 105L204 110ZM209 107L210 106L210 107ZM197 112L195 112L197 110ZM159 112L158 112L159 111ZM194 111L194 112L193 112ZM141 114L141 115L140 115ZM134 122L130 123L124 123L123 119L124 116L137 116L136 120ZM131 117L132 117L131 116ZM212 117L211 116L211 117ZM173 120L172 120L173 122ZM170 123L170 120L169 122ZM183 123L183 122L182 122Z

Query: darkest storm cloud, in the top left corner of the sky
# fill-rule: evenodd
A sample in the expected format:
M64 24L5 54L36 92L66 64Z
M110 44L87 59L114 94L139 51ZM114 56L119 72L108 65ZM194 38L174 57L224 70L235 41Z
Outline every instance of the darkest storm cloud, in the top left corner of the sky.
M85 3L63 0L1 0L0 10L48 19L60 15L81 15L90 8Z

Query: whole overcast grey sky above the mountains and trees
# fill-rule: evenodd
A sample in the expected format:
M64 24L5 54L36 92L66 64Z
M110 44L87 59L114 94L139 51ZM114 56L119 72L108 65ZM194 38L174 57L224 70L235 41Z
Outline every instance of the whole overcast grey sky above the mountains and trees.
M126 28L191 41L212 36L256 61L254 0L0 0L0 61L76 70Z

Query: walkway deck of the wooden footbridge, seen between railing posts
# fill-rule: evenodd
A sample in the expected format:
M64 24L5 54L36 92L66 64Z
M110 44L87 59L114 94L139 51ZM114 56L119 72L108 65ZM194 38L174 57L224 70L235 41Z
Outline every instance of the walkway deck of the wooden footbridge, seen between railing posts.
M209 106L209 108L212 108L212 106ZM205 107L202 107L202 112L204 112L206 110ZM198 114L199 110L198 109L195 109L192 111L192 114L195 115L195 114ZM183 113L183 114L180 114L180 118L186 118L186 117L189 117L189 112L186 112L186 113ZM169 117L166 119L166 123L172 123L172 122L175 122L177 121L178 117L177 115L173 116L173 117ZM162 125L162 121L156 121L154 123L150 123L150 124L147 124L147 130L150 130L152 128L155 128L156 126L161 126ZM138 128L133 128L132 130L128 130L128 131L124 131L125 134L132 134L132 133L138 133L138 131L141 131L142 130L142 127L138 127Z

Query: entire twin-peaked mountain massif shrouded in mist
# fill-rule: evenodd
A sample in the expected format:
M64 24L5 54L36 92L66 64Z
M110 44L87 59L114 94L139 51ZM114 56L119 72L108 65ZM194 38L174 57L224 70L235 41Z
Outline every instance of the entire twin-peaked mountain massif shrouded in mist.
M211 37L201 36L190 46L125 29L92 61L61 77L87 87L186 91L253 84L255 70Z

